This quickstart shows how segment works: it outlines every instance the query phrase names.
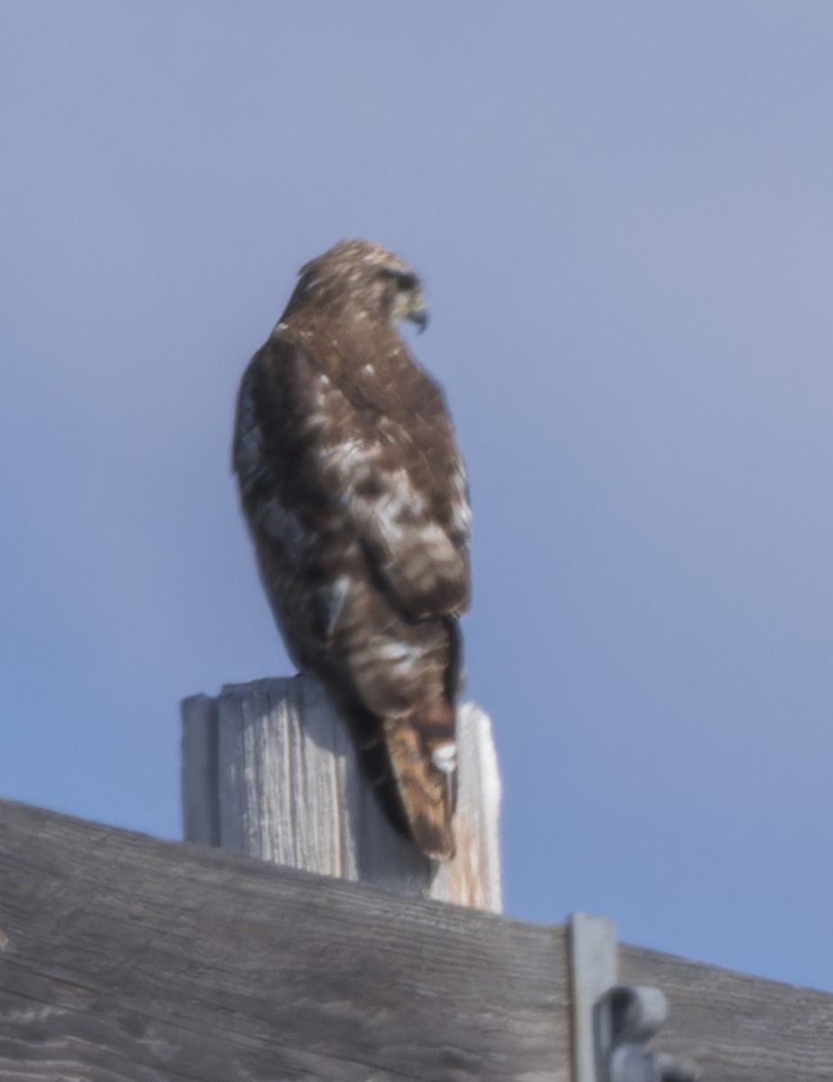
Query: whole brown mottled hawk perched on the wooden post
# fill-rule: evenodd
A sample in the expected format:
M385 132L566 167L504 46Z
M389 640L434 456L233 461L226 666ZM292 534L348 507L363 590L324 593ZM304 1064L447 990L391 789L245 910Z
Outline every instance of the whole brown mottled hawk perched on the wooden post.
M234 469L293 661L341 707L394 821L448 859L471 511L402 319L423 328L425 302L391 252L345 240L307 263L243 374Z

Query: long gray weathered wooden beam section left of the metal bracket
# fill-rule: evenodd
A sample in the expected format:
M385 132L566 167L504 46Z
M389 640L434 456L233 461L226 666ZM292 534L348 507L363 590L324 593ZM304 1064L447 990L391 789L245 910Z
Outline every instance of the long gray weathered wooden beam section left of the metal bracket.
M568 1082L565 931L0 801L2 1082Z

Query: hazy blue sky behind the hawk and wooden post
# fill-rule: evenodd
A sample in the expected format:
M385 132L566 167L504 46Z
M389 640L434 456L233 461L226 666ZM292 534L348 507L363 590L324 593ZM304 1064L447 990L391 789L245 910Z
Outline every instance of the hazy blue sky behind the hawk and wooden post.
M506 910L833 990L833 8L6 2L0 794L180 836L178 700L290 671L237 381L423 275Z

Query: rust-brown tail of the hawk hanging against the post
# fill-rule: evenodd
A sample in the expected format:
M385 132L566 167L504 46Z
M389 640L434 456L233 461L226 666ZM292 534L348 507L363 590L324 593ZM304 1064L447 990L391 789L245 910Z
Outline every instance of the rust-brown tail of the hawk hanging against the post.
M408 831L432 860L454 855L454 711L444 697L383 723L384 742Z

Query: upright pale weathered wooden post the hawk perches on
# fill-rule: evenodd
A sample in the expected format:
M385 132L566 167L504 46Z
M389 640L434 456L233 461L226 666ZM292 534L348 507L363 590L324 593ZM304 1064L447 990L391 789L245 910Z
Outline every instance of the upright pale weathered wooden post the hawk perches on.
M458 712L458 856L439 868L392 828L315 677L229 685L182 715L187 841L500 912L500 778L476 707Z

